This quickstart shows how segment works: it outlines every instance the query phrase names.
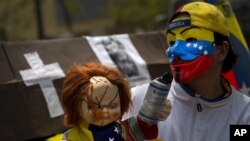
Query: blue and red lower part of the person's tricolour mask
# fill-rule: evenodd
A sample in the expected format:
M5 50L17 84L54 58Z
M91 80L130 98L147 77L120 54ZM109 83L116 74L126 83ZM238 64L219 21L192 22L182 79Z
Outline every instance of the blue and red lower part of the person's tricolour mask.
M176 41L167 50L175 80L182 83L204 73L212 64L213 53L214 47L208 41ZM176 58L182 61L174 61Z

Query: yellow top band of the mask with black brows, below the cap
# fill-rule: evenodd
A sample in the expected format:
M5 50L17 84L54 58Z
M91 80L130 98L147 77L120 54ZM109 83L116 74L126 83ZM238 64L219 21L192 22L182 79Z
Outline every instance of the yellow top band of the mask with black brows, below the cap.
M212 43L214 42L214 34L213 31L195 26L178 27L168 31L167 33L167 41L169 46L172 46L176 40L204 40Z

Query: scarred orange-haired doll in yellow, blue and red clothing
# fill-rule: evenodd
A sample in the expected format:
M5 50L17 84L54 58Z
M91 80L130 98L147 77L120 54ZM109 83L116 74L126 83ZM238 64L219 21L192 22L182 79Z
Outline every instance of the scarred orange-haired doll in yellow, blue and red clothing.
M123 75L99 63L69 69L61 94L64 124L62 141L156 140L157 124L134 116L121 122L131 105L131 93ZM169 107L167 105L165 107ZM162 110L167 117L169 110Z

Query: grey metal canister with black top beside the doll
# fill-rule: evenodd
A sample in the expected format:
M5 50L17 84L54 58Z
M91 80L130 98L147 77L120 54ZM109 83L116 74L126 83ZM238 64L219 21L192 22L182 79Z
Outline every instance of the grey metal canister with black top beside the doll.
M142 120L150 123L165 120L161 119L161 108L166 102L172 79L172 75L166 73L150 82L139 111L139 117Z

